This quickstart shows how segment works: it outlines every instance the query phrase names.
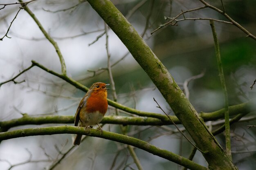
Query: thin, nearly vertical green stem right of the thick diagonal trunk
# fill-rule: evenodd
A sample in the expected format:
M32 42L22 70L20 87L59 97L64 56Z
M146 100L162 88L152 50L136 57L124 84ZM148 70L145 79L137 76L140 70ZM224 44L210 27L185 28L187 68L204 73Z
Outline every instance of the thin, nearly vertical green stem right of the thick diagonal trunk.
M220 76L220 83L222 86L222 91L225 98L225 137L226 137L226 152L229 156L229 159L232 160L231 155L231 141L230 141L230 126L229 126L229 101L228 101L228 94L227 94L227 88L225 83L225 76L222 68L221 58L220 58L220 46L217 38L216 29L214 26L214 21L210 20L211 25L211 31L213 34L213 40L214 40L214 46L215 46L215 53L217 58L217 65L219 70L219 76Z

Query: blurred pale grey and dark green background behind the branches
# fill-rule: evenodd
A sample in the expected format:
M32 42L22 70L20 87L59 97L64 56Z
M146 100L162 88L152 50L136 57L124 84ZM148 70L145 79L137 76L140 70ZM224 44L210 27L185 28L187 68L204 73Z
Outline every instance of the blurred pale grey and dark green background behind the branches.
M1 0L1 4L15 3ZM218 76L211 27L208 20L186 20L175 26L165 26L153 35L150 32L168 22L165 17L175 17L181 10L202 7L198 0L113 0L115 6L135 27L153 52L159 57L183 89L183 83L200 73L201 78L189 83L189 99L198 112L212 112L223 108L224 98ZM209 2L222 9L219 1ZM227 14L245 29L256 35L256 1L225 0ZM3 6L0 6L2 8ZM0 10L0 37L4 36L19 10L19 5L9 5ZM67 75L90 87L94 82L110 83L107 71L106 33L104 22L84 0L36 0L28 4L45 30L61 49L67 66ZM186 18L215 18L226 20L211 9L201 9L185 14ZM178 19L182 19L180 16ZM247 38L237 27L215 22L223 70L225 73L229 104L236 105L256 97L256 41ZM0 82L17 75L31 65L31 60L61 73L58 55L44 37L34 20L21 10L13 21L8 37L0 42ZM115 33L108 31L108 49L119 103L138 110L161 113L153 97L166 113L171 108L155 88L143 69L128 53ZM22 82L25 80L25 82ZM22 74L14 84L0 87L0 121L43 115L74 115L85 92L67 84L38 67ZM108 97L113 99L113 91ZM107 115L115 115L109 107ZM122 113L121 115L126 115ZM255 113L246 115L247 121L231 126L233 160L240 170L256 168ZM56 126L44 124L41 126ZM213 129L220 125L213 126ZM22 126L11 128L29 128ZM182 126L180 126L182 127ZM103 128L119 132L119 125L106 124ZM173 133L174 126L129 126L128 135L137 137L184 157L189 157L191 144ZM187 136L188 134L185 133ZM56 170L122 170L137 169L125 145L104 139L88 137L79 147L72 147L73 135L48 135L24 137L2 141L0 144L0 169L43 170L51 169L63 154L65 159L52 169ZM225 136L216 136L225 148ZM245 151L240 153L240 151ZM144 170L180 170L182 167L166 159L135 149ZM197 152L193 161L207 166Z

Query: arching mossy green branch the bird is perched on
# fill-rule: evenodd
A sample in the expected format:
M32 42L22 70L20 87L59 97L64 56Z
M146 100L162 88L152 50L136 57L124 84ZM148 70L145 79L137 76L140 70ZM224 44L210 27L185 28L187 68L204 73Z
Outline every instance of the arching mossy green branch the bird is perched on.
M182 166L185 166L191 170L207 170L206 167L203 167L189 159L181 157L180 155L176 155L167 150L158 148L152 144L149 144L140 139L136 139L134 137L128 137L125 135L103 131L102 133L96 129L85 130L81 127L74 126L54 126L54 127L43 127L43 128L27 128L21 130L13 130L9 132L0 133L0 141L13 139L18 137L27 137L27 136L36 136L36 135L54 135L54 134L81 134L87 135L91 137L100 137L103 139L108 139L112 141L117 141L123 144L128 144L142 150L145 150L153 155L157 155L169 161L173 161Z

